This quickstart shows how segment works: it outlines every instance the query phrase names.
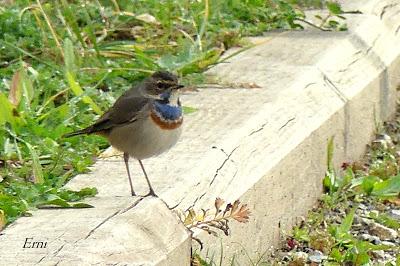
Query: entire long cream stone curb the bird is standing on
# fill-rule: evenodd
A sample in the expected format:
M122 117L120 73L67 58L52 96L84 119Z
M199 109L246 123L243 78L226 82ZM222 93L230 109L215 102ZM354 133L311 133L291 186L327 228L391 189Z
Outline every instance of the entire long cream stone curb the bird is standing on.
M209 71L218 88L188 92L181 141L146 160L155 190L169 206L213 207L215 197L238 198L252 211L248 224L231 223L222 237L226 259L262 253L282 230L305 215L321 195L327 140L335 137L334 162L359 158L376 121L395 111L400 84L400 3L352 1L345 9L348 32L283 32ZM246 84L259 88L245 88ZM146 184L137 165L135 188ZM101 160L75 177L71 188L95 186L94 209L39 210L0 235L7 265L188 265L191 240L165 204L129 197L121 158ZM23 249L27 237L48 241L43 250ZM209 255L221 242L206 235ZM207 250L203 251L206 252ZM205 253L204 253L205 254ZM243 256L242 256L243 255ZM250 254L251 257L257 254Z

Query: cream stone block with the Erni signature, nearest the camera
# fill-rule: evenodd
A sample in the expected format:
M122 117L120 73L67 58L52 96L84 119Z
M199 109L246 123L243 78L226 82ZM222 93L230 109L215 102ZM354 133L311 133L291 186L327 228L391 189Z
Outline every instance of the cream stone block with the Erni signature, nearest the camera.
M189 264L188 232L159 199L95 198L90 203L95 208L39 210L20 218L0 236L0 264Z

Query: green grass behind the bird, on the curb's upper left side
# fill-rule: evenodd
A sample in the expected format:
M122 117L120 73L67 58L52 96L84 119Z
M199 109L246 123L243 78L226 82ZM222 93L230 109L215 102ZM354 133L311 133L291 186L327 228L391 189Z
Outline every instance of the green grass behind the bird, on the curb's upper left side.
M0 1L2 2L2 1ZM96 194L62 186L107 147L62 135L94 121L155 70L184 84L242 36L300 28L301 4L280 0L6 1L0 7L0 229L40 206ZM329 25L328 25L329 26ZM195 111L193 108L187 110Z

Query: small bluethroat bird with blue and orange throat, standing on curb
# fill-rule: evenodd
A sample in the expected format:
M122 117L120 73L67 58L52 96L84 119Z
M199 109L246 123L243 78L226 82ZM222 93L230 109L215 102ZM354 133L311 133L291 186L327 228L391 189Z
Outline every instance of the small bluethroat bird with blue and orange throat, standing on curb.
M167 71L155 72L121 95L93 125L66 134L98 134L124 153L132 196L136 196L129 172L129 157L139 161L150 192L156 196L142 160L161 154L176 144L182 131L183 113L178 78Z

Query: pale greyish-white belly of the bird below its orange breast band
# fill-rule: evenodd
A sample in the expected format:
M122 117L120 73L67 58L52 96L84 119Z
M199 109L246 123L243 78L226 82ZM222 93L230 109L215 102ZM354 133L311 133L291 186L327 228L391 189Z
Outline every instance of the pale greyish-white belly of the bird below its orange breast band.
M142 160L163 153L176 144L182 127L161 129L150 118L116 127L109 134L111 145Z

